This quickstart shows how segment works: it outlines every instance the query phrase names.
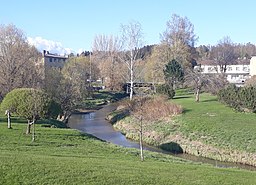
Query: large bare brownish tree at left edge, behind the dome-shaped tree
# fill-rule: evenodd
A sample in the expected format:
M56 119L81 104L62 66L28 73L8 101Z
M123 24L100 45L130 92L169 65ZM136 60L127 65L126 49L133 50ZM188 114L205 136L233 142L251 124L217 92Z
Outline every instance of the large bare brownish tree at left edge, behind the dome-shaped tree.
M40 82L36 65L40 53L28 44L24 33L14 25L0 25L1 96L18 87L35 87Z

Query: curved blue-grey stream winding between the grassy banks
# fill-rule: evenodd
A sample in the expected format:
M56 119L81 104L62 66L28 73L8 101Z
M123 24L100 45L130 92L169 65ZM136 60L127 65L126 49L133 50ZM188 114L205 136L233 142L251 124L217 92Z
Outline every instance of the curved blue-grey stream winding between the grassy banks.
M69 119L68 125L70 128L77 129L82 132L91 134L99 139L108 141L116 145L120 145L128 148L139 148L138 142L128 140L121 132L115 130L112 124L110 124L105 119L107 114L115 110L115 108L116 108L115 105L110 104L110 105L104 106L102 109L95 112L90 112L85 114L73 114ZM160 152L160 153L175 155L173 153L170 153L152 146L144 146L144 149L153 151L153 152ZM216 160L208 159L204 157L193 156L189 154L176 154L175 156L183 159L195 161L195 162L212 164L217 167L223 167L223 168L235 167L235 168L243 168L243 169L253 170L253 171L256 170L256 167L249 166L249 165L230 163L230 162L221 162L221 161L216 161Z

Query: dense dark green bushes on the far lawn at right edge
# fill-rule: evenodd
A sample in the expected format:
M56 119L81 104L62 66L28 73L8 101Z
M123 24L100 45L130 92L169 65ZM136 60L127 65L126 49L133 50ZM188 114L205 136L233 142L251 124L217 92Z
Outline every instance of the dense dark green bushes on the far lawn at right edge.
M230 85L218 93L219 101L241 112L256 112L256 88Z

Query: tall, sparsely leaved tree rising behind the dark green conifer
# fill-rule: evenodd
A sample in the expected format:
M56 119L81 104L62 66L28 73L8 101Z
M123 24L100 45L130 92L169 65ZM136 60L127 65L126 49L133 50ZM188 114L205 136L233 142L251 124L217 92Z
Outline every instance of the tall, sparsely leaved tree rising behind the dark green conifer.
M167 22L166 31L162 34L162 43L168 47L168 60L175 59L183 67L191 67L193 59L193 48L197 41L194 33L194 25L187 17L173 14Z

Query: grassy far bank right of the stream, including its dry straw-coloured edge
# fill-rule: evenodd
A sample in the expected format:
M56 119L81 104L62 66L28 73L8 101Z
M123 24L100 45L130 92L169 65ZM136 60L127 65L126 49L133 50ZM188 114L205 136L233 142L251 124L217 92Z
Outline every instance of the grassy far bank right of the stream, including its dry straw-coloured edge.
M182 105L184 113L145 126L144 142L173 152L256 166L255 114L234 112L208 94L203 94L199 103L190 95L173 102ZM114 127L138 140L135 121L119 117L114 114L113 118L118 118Z

